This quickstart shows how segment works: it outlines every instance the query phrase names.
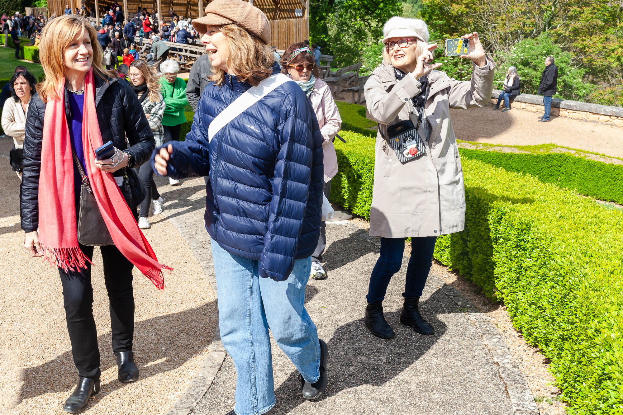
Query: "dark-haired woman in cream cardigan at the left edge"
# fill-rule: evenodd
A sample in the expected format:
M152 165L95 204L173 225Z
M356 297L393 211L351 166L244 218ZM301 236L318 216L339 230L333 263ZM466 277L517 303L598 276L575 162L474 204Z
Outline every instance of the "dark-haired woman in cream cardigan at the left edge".
M24 147L24 126L26 125L26 114L32 95L35 93L37 80L34 75L26 70L16 72L9 81L11 97L4 102L2 108L2 130L13 138L13 147L21 149ZM12 153L17 153L12 150ZM21 158L20 158L21 159ZM17 176L22 178L21 166L17 168Z

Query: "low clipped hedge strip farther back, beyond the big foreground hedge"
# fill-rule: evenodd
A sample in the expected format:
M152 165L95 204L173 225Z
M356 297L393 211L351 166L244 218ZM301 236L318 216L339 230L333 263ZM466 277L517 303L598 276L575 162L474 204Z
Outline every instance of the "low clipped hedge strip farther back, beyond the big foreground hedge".
M501 153L461 148L462 158L484 161L508 171L532 174L545 183L574 189L592 198L623 204L623 165L565 153Z

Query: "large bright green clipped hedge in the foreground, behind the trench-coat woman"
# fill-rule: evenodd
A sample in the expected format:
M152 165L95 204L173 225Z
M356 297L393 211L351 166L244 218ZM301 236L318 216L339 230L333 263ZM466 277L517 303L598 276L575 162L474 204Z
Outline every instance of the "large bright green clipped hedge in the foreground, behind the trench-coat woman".
M330 199L369 217L373 141L344 135ZM551 359L569 414L622 413L623 212L535 176L462 165L465 231L440 237L435 258L503 300Z

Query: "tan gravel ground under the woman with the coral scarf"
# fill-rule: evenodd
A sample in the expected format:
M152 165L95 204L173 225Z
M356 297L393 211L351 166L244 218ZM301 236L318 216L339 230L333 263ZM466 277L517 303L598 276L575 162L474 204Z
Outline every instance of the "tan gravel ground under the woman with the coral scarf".
M61 406L75 387L59 274L27 256L19 227L19 179L9 167L12 141L0 138L0 413L65 414ZM164 182L163 182L164 183ZM192 194L161 186L169 209L191 209ZM182 191L185 193L186 191ZM205 194L205 193L204 193ZM151 219L151 217L150 217ZM216 300L204 270L173 224L156 216L145 235L159 260L174 267L159 292L135 272L134 351L141 371L136 383L121 384L110 346L110 315L96 249L93 267L102 355L102 390L84 414L163 414L188 387L211 345Z

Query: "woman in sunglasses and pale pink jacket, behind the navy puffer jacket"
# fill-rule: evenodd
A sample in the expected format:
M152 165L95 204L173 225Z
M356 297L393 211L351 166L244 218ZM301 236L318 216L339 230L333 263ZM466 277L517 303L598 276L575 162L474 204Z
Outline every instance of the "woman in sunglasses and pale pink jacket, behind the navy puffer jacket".
M331 193L331 179L338 172L338 158L335 155L333 138L340 131L342 119L335 100L331 95L329 85L320 79L320 71L316 66L312 50L303 42L293 43L283 53L279 61L282 74L288 75L298 83L305 95L312 102L313 111L318 118L318 125L322 133L322 150L325 163L325 196ZM312 270L310 275L315 280L326 279L326 272L322 267L322 253L326 247L326 223L320 222L320 236L318 245L312 255Z

